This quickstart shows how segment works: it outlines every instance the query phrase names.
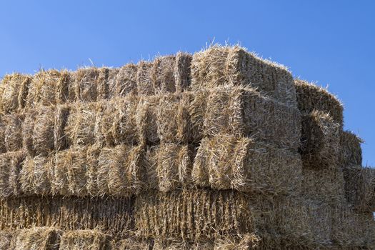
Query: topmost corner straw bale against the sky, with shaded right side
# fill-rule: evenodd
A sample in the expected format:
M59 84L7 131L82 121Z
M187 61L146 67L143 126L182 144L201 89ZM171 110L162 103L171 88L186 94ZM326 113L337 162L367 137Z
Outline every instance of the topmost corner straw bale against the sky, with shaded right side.
M288 106L296 106L293 77L284 66L260 59L240 46L214 45L194 54L192 89L250 86Z

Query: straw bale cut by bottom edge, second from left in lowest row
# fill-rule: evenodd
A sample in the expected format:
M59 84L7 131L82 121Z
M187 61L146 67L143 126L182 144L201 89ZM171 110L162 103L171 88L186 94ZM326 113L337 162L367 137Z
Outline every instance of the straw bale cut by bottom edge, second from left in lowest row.
M20 230L14 249L58 250L61 231L53 227L34 227Z

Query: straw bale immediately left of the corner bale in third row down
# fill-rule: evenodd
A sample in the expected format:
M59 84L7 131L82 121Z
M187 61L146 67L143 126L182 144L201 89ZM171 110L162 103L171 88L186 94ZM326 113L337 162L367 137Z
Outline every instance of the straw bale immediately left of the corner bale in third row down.
M194 155L191 145L161 144L149 147L144 156L147 189L166 192L191 187Z

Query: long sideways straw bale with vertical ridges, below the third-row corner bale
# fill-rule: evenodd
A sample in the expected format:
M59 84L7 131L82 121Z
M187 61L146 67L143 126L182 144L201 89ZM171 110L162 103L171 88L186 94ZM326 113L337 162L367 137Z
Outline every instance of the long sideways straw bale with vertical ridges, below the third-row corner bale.
M213 239L251 231L247 201L234 191L146 193L135 202L135 225L144 238Z

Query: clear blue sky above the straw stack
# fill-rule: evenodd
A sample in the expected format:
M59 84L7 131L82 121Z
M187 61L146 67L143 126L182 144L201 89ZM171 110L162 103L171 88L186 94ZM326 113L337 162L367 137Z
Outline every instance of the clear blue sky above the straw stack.
M138 3L139 2L139 3ZM1 1L0 76L241 42L329 86L375 166L374 1Z

